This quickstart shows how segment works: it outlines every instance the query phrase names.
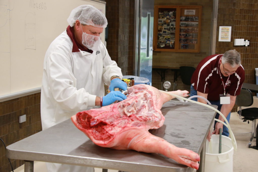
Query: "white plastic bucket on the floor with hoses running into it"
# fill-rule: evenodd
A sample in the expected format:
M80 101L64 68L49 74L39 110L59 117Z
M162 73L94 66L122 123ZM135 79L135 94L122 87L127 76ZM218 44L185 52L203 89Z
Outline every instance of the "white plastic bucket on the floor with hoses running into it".
M205 168L206 172L232 172L234 148L231 138L221 138L221 153L219 153L219 137L213 134L211 141L206 142Z

